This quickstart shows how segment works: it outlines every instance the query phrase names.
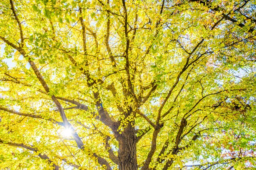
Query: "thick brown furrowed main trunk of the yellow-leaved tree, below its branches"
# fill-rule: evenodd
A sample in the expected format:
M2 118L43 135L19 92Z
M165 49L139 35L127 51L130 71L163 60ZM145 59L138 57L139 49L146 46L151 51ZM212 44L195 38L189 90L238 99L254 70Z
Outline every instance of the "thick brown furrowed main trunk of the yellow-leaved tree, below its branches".
M120 134L119 139L119 170L137 170L136 134L131 122Z

